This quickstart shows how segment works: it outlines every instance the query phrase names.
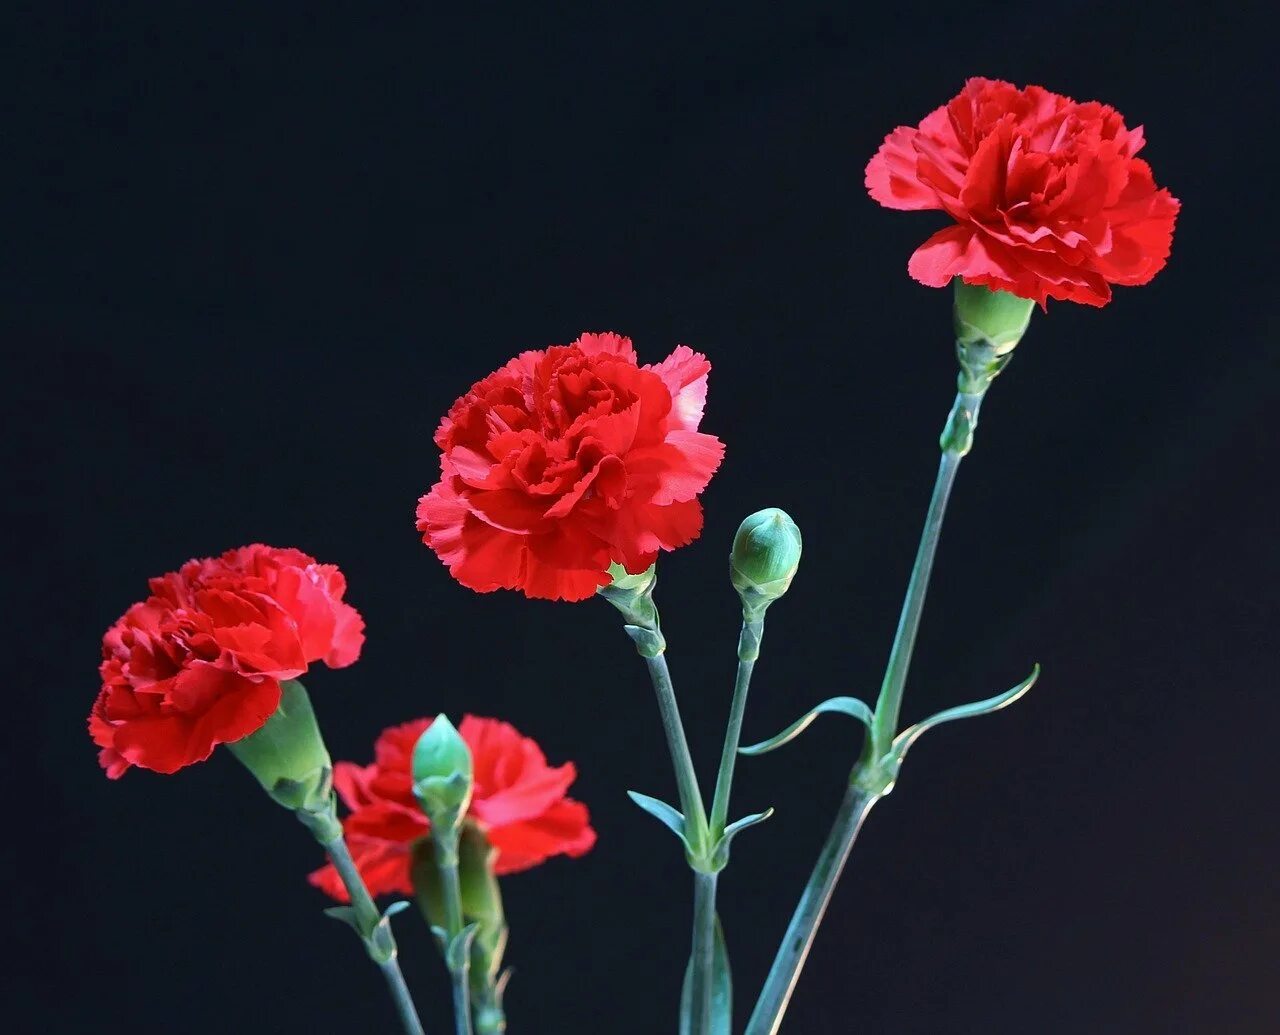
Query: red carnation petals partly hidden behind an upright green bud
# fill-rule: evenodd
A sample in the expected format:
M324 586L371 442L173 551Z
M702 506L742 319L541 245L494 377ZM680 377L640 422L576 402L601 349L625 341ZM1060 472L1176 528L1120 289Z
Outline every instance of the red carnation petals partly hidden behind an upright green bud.
M412 848L430 824L413 797L411 761L413 745L431 722L383 731L372 765L334 765L334 787L352 810L343 820L347 844L371 894L413 893ZM466 715L458 733L471 750L475 775L467 820L497 848L497 874L527 870L550 856L577 857L595 844L586 806L564 796L577 777L572 762L549 766L534 741L498 719ZM308 879L325 894L348 901L332 865Z

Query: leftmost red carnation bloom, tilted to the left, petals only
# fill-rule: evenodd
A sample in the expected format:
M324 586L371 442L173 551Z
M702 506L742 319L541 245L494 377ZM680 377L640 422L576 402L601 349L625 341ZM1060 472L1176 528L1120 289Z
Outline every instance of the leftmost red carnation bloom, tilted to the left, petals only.
M365 622L347 581L301 550L255 544L152 578L102 637L102 690L88 728L115 779L129 766L174 773L260 729L280 681L312 661L360 656Z

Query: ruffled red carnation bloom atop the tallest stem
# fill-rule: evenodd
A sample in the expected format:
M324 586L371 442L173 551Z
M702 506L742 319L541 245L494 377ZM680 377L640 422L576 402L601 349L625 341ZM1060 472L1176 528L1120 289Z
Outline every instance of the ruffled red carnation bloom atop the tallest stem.
M1142 146L1142 127L1107 105L970 79L884 138L867 189L887 209L955 220L911 256L922 284L959 276L1041 306L1105 306L1112 284L1146 284L1169 257L1179 202L1134 157Z

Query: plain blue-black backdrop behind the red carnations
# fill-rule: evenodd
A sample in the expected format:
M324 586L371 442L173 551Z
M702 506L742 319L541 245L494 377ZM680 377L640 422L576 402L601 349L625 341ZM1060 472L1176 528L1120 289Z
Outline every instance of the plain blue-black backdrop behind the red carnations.
M643 361L705 351L728 455L701 540L660 564L705 779L748 512L787 508L806 553L746 736L872 696L954 368L946 293L905 273L941 223L877 207L863 166L988 74L1144 123L1184 211L1153 284L1051 304L992 390L906 718L1044 676L915 748L785 1030L1276 1031L1265 26L1102 3L320 10L47 4L6 33L10 761L35 748L9 784L10 1030L393 1029L303 880L316 849L225 752L109 783L83 732L99 637L145 578L264 540L340 564L369 620L357 667L308 679L335 756L447 710L577 762L598 848L504 884L512 1031L672 1031L689 881L623 796L673 794L643 667L604 604L448 578L413 531L430 435L582 329ZM823 720L740 770L735 811L778 809L722 880L740 1020L856 743ZM412 916L397 930L445 1031L442 967Z

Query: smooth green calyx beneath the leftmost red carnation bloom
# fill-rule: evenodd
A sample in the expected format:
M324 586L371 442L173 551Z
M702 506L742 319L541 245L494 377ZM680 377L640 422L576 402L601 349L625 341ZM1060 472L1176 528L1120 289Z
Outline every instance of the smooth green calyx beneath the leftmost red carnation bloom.
M280 704L261 729L227 747L285 809L317 815L332 810L333 762L311 699L297 679L280 683Z

